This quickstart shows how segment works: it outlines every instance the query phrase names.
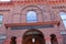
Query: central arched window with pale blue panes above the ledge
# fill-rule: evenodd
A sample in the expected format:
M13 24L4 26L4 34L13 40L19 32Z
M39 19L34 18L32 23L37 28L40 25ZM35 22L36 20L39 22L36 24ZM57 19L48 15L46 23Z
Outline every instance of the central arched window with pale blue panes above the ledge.
M37 18L36 18L36 12L35 11L29 11L26 13L26 22L36 22Z

